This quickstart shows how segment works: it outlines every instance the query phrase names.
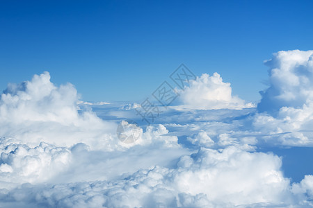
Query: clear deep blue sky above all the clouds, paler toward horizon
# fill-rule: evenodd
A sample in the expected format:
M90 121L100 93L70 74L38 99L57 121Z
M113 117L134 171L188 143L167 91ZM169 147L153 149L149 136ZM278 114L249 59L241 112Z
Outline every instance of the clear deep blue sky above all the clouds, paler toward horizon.
M313 49L313 1L0 1L0 88L49 71L84 101L142 101L179 64L259 99L263 60Z

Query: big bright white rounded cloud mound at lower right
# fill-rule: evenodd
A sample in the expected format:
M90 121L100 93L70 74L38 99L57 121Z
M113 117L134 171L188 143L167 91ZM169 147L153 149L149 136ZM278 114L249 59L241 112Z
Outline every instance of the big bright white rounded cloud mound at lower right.
M175 177L178 189L193 196L204 193L216 205L278 203L289 186L280 172L280 159L271 154L234 147L221 151L201 148L192 159L183 158L179 164L188 168Z

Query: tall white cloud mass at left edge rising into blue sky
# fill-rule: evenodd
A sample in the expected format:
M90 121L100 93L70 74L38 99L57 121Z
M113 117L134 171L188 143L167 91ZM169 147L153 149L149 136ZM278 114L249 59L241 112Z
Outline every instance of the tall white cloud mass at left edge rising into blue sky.
M8 85L0 99L1 143L34 147L41 141L70 147L85 142L92 148L113 148L115 123L94 112L77 109L77 90L67 83L56 87L48 72L20 85Z

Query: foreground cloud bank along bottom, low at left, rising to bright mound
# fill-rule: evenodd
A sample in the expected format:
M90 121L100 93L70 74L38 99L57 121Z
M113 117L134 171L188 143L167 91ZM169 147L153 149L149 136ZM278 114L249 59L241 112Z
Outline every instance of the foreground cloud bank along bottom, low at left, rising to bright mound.
M282 205L292 194L280 165L280 158L272 154L202 148L181 157L177 168L155 166L112 182L22 186L3 194L3 200L47 207Z

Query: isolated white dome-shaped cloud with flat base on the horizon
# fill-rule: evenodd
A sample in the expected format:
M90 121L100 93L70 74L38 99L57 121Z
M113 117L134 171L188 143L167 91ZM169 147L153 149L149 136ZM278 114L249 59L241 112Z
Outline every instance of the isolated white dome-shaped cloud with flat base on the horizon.
M230 83L224 83L218 73L213 76L203 73L178 92L183 105L191 109L242 109L254 106L238 96L233 96Z

